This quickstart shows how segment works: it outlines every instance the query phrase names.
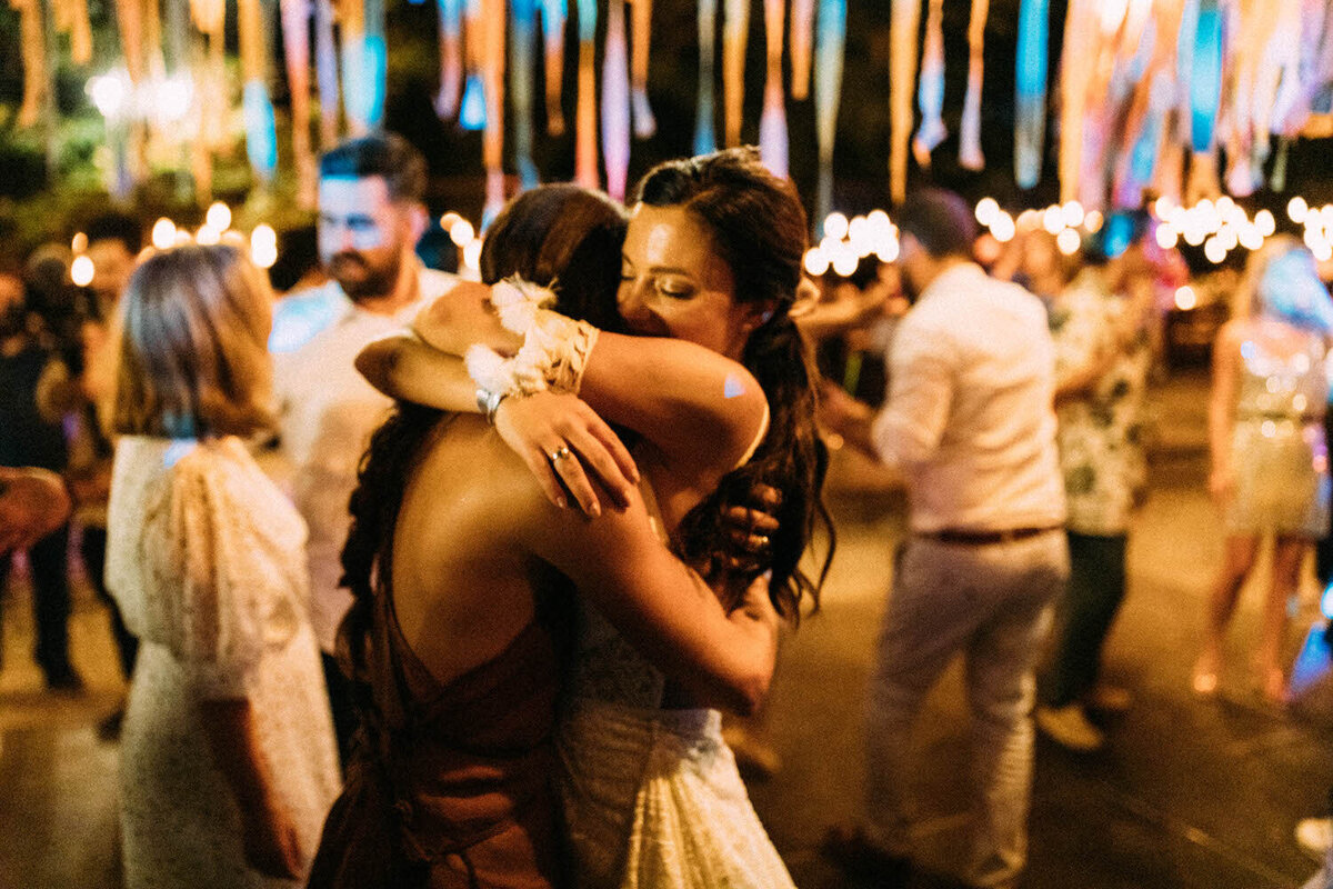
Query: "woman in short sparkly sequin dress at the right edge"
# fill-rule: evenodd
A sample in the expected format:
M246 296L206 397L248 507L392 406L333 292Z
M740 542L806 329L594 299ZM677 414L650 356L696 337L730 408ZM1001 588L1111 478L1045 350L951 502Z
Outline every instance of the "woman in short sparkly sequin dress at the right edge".
M1264 697L1282 702L1288 600L1306 548L1329 524L1324 412L1333 304L1314 259L1292 237L1274 239L1250 259L1238 296L1236 317L1213 347L1208 486L1225 518L1226 544L1193 688L1205 696L1217 690L1226 626L1260 541L1273 534L1273 573L1254 662Z

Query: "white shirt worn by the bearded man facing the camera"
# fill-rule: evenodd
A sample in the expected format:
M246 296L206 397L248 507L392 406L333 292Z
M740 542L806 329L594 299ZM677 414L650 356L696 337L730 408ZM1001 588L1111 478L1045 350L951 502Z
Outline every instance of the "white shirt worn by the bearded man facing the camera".
M309 526L311 622L329 653L352 604L351 593L339 586L351 524L348 500L361 454L392 405L357 373L353 360L459 281L432 269L419 273L420 299L395 315L357 308L336 281L293 293L273 313L269 352L283 450L296 508Z

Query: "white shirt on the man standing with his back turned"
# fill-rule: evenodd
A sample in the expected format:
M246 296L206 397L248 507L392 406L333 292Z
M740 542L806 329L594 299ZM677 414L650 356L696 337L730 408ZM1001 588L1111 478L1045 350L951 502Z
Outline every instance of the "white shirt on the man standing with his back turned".
M1060 525L1054 349L1041 301L972 263L941 273L889 348L870 437L908 480L916 532Z

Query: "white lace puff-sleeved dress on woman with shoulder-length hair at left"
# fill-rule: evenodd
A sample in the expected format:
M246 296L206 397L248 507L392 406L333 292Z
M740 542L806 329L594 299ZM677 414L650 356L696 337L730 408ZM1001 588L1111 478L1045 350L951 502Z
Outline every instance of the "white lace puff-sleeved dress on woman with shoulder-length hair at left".
M125 885L293 885L245 865L199 702L251 702L308 861L341 782L304 522L239 440L140 436L116 445L108 518L107 585L141 642L120 749Z

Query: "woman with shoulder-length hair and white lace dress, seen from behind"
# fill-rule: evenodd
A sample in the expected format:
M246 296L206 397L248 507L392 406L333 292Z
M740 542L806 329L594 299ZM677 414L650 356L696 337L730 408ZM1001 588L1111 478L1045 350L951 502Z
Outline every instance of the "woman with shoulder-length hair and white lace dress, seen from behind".
M149 257L124 299L107 581L141 641L129 889L295 885L339 789L305 526L237 437L268 420L271 303L225 245Z

